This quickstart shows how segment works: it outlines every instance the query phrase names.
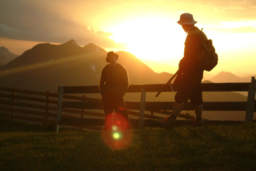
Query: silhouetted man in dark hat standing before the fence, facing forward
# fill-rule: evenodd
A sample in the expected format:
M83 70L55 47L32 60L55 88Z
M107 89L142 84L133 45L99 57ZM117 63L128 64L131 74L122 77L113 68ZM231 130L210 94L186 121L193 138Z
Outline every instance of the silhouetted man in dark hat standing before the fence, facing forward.
M126 113L126 105L123 96L129 86L126 68L117 63L118 54L109 51L106 57L107 64L102 68L100 75L100 94L102 95L103 108L105 112L105 131L112 131L117 127L122 130L131 129L130 120ZM112 112L115 110L119 121L113 125ZM114 130L115 131L115 130Z

